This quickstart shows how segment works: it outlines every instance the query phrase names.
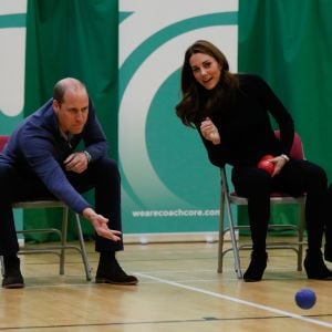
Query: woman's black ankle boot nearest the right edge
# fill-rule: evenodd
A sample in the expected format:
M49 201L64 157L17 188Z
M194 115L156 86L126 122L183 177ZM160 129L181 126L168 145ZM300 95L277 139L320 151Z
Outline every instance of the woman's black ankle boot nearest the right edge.
M320 250L307 250L303 264L309 279L332 280L332 271L326 268Z

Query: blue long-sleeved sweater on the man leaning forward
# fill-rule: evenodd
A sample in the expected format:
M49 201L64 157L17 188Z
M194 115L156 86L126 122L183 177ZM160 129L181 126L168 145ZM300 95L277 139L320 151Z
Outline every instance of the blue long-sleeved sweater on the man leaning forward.
M106 138L91 101L82 133L68 141L61 135L50 100L19 124L0 155L0 162L9 163L27 176L37 175L58 199L82 214L90 204L70 184L63 164L81 142L92 156L92 163L106 156Z

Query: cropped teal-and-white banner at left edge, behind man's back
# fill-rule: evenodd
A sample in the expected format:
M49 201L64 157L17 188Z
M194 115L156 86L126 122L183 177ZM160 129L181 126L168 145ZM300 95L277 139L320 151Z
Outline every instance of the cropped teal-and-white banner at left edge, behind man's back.
M0 1L0 135L10 135L23 118L25 18L25 0ZM14 220L22 229L21 210L14 210Z

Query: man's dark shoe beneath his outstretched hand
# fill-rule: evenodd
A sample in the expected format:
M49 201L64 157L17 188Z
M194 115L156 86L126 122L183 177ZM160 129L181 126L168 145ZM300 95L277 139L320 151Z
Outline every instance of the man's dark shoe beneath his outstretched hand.
M115 252L102 252L95 277L96 283L137 284L134 276L128 276L118 264Z

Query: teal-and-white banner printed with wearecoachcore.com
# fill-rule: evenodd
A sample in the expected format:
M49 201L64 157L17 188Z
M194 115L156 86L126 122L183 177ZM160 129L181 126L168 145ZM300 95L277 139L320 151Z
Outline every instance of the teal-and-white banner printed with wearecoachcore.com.
M219 169L209 163L198 133L177 118L175 105L185 50L194 41L215 42L237 70L237 1L121 0L120 14L125 232L216 231Z

